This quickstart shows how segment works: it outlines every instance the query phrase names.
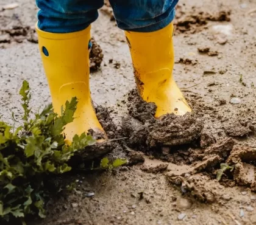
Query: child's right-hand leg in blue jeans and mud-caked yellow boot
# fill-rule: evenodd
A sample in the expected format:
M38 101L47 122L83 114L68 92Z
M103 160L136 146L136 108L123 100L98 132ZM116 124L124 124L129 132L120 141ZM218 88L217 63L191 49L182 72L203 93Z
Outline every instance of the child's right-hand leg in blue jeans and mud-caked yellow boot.
M141 97L157 105L155 117L183 115L190 106L172 77L174 7L178 0L110 0L127 42Z

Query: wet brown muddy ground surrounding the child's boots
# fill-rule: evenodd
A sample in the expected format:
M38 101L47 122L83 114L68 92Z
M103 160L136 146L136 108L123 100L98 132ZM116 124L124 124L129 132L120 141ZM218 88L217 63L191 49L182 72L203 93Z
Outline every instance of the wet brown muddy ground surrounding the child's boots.
M21 112L24 79L35 110L51 101L34 33L37 8L16 2L0 10L0 114L10 123L11 111ZM91 59L91 94L115 123L118 134L108 134L129 137L109 157L127 157L129 164L70 175L76 190L52 198L48 218L30 224L256 224L256 2L179 2L174 77L194 111L185 122L136 116L128 96L135 88L129 47L111 13L101 10L93 24L104 58L99 69L101 56ZM125 125L127 115L137 117L146 136ZM163 146L166 134L175 141Z

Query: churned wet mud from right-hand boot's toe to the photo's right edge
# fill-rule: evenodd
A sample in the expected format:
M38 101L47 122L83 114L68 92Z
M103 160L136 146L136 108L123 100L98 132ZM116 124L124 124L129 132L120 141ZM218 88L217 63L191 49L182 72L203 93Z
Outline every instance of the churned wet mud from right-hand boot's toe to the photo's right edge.
M247 119L240 122L238 117L224 118L216 114L214 106L205 105L197 97L189 97L189 102L193 102L193 114L182 117L169 114L155 119L155 104L144 102L135 90L130 92L127 102L129 116L122 123L124 135L129 137L127 145L162 161L188 165L183 173L171 170L166 177L183 193L200 201L219 201L221 184L229 187L243 185L255 191L256 150L238 145L238 141L232 138L252 135L253 122ZM226 168L223 164L227 165ZM141 170L163 173L167 168L165 163L157 166L144 164ZM218 182L221 168L224 170Z

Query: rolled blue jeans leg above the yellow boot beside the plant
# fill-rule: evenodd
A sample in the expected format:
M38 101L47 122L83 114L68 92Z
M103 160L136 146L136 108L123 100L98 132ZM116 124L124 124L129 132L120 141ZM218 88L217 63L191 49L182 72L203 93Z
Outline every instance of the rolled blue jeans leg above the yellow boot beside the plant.
M51 33L84 30L98 18L103 0L36 0L39 29Z

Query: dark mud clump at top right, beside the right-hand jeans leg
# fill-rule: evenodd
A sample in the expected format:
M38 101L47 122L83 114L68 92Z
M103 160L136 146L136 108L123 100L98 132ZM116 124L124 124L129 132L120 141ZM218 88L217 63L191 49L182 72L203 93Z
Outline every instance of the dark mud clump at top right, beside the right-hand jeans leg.
M175 33L197 33L205 29L209 21L230 21L230 10L220 10L219 12L200 11L196 7L191 10L183 10L178 5L176 19L174 20Z

